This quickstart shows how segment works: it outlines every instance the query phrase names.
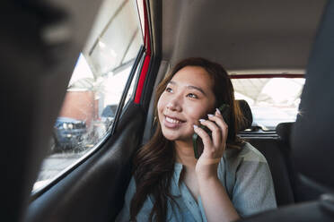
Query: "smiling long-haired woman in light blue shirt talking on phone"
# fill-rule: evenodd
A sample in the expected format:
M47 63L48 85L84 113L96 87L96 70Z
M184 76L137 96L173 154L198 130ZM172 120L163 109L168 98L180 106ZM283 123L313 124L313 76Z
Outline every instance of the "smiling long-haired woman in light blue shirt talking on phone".
M233 221L276 208L266 159L236 136L243 117L220 64L181 61L156 98L156 130L136 154L117 221ZM231 110L228 125L215 109L222 104ZM194 132L204 144L198 159Z

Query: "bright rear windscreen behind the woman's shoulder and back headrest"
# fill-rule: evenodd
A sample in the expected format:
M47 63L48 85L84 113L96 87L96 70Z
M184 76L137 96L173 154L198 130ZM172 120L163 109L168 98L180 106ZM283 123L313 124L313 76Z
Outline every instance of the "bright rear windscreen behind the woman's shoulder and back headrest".
M294 122L298 114L303 78L232 79L236 99L245 99L251 107L253 126L264 131L277 124Z

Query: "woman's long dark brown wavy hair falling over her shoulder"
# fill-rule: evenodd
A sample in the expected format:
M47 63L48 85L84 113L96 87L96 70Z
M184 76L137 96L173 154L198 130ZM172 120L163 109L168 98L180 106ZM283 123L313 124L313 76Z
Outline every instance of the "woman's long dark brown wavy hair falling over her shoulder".
M227 136L227 148L238 147L242 141L236 133L238 126L243 121L242 112L234 99L234 91L228 74L220 64L208 61L204 58L188 58L180 61L172 69L171 73L158 85L154 106L163 94L172 77L186 66L199 66L204 68L214 82L215 107L228 104L231 107L229 132ZM155 110L157 118L157 110ZM167 217L167 201L173 201L170 193L171 177L175 164L175 149L172 141L163 137L159 121L156 121L154 136L144 147L138 150L134 158L134 177L136 181L136 193L131 201L130 218L136 221L136 215L142 208L145 200L150 195L154 200L154 207L150 213L150 221L165 221Z

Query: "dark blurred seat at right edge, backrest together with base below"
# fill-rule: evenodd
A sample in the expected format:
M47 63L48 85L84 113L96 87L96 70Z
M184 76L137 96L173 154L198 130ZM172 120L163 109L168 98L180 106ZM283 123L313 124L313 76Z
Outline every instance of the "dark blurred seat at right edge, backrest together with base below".
M322 194L318 201L270 210L240 221L334 221L334 1L329 1L318 27L299 109L292 128L294 166Z

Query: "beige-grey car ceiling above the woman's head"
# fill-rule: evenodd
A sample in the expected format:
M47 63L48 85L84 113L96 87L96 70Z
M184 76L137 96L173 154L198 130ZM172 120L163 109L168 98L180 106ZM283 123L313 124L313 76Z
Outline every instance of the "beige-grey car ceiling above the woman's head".
M202 56L229 73L303 73L324 0L164 0L163 60Z

